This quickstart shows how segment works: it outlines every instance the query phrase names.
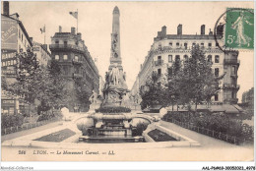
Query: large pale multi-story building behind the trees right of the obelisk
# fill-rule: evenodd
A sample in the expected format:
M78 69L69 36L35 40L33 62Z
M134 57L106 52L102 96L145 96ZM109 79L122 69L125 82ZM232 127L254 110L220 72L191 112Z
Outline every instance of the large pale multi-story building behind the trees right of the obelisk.
M221 80L221 90L212 98L213 103L237 103L238 52L221 50L218 42L222 41L222 36L222 32L218 32L216 36L218 41L216 41L211 29L209 34L205 33L205 25L201 26L201 34L182 34L182 25L177 27L177 34L166 34L166 27L162 27L158 36L154 38L154 43L141 65L131 91L136 94L139 87L146 84L154 71L162 76L167 74L167 69L175 60L179 59L181 62L187 60L191 57L193 45L199 44L204 49L207 60L213 64L214 75L224 76Z

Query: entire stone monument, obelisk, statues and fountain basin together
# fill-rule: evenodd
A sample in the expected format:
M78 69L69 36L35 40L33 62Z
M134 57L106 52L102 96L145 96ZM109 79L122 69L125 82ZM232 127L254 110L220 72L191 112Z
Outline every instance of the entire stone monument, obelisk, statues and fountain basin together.
M132 114L125 103L129 92L126 85L126 74L123 72L120 53L120 12L118 7L113 10L111 33L111 53L108 72L105 73L103 101L95 112L79 120L77 127L83 136L80 142L142 142L143 137L133 137L133 130L139 123L150 124L153 118ZM92 95L92 109L96 106L96 95ZM92 110L91 110L92 111Z

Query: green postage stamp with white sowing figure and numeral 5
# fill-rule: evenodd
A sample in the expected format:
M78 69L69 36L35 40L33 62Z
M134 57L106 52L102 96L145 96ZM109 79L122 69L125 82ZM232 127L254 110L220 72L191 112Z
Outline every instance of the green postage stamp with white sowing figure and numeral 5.
M253 9L227 9L224 45L230 48L253 49Z

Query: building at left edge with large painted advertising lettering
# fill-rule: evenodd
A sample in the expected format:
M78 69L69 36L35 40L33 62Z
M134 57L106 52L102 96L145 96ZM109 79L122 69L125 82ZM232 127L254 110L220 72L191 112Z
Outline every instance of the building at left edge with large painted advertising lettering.
M16 82L17 58L16 53L27 51L32 48L31 38L19 20L17 13L9 14L9 2L4 1L3 14L1 14L1 71L2 77L8 84ZM4 114L17 114L24 108L22 99L8 94L1 88L1 109Z

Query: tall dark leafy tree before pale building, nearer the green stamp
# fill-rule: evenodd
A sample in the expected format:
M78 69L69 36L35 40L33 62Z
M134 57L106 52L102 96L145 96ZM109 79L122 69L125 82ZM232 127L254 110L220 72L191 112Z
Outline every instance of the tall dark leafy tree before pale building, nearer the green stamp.
M197 105L203 101L211 101L211 97L218 92L219 80L212 73L212 63L209 62L204 51L198 44L193 46L191 58L184 64L183 79L180 84L180 92L183 103Z

